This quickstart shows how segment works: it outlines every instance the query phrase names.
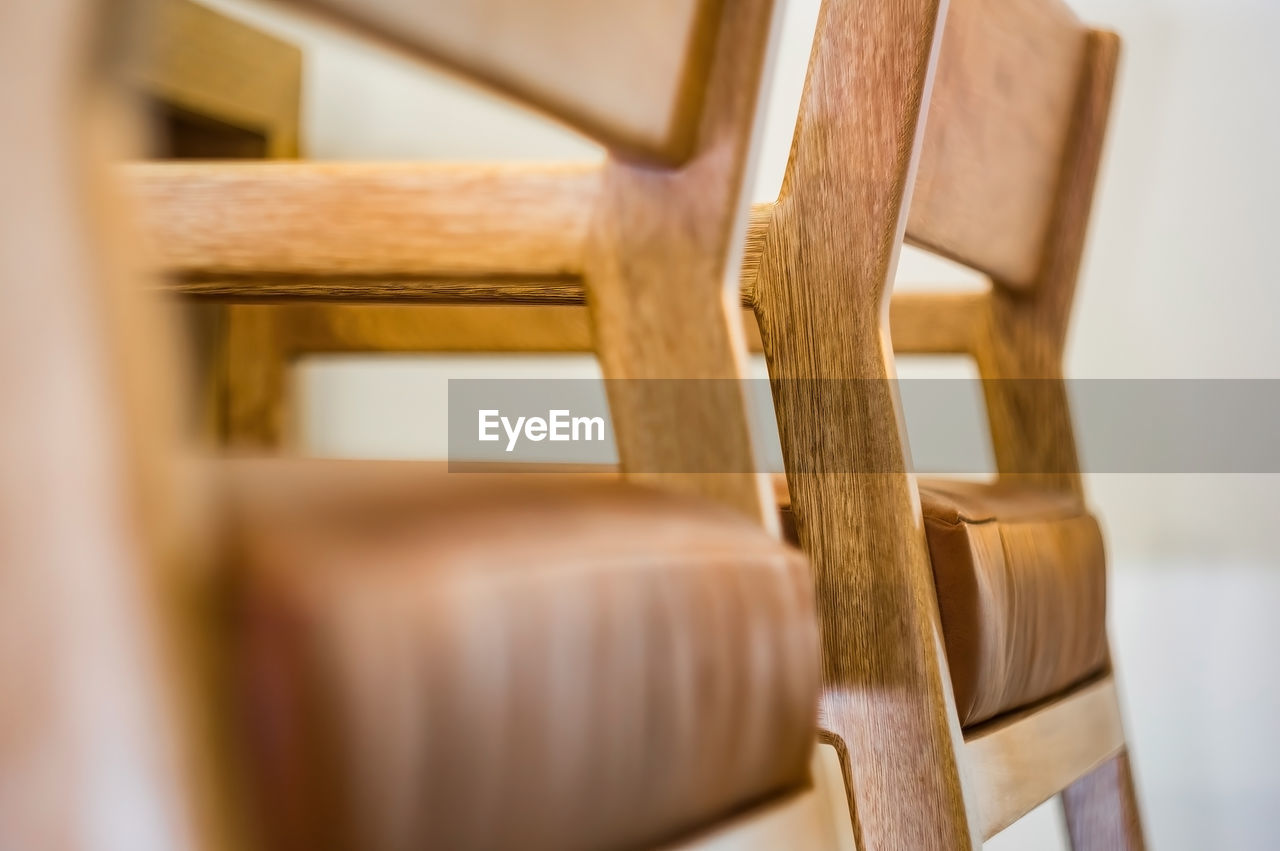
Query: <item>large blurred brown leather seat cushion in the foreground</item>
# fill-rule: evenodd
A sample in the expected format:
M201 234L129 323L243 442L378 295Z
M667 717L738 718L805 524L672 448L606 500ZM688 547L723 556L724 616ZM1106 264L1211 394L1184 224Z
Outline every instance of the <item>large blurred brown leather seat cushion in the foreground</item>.
M271 847L621 848L801 784L806 563L617 481L223 468Z

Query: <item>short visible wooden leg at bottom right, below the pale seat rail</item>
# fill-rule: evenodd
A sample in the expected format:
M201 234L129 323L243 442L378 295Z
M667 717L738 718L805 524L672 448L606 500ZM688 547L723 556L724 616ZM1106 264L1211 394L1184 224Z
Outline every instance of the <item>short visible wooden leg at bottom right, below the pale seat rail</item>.
M1064 790L1062 809L1073 851L1143 851L1147 847L1126 750Z

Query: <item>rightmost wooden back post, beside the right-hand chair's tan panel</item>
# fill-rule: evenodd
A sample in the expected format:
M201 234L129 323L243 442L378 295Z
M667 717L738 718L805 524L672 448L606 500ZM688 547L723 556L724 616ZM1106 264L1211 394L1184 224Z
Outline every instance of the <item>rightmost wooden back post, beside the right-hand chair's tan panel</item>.
M1088 233L1120 42L1091 32L1073 110L1070 147L1051 230L1030 292L996 288L974 352L1002 476L1080 493L1079 459L1062 381L1071 303Z

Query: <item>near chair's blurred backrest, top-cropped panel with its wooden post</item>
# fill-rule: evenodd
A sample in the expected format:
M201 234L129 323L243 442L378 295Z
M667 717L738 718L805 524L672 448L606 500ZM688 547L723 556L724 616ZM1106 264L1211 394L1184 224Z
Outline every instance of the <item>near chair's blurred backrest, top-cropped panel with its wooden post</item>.
M625 379L608 386L623 471L776 530L737 381L746 342L733 307L773 1L307 5L520 95L609 147L582 279L604 375Z

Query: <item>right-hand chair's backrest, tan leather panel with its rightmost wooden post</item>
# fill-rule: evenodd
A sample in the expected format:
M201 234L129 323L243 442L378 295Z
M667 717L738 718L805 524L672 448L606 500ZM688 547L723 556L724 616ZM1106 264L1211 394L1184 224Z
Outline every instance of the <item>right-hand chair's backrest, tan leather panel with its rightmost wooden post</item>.
M956 0L906 239L986 273L972 354L1000 475L1080 493L1062 354L1119 38L1061 0Z

